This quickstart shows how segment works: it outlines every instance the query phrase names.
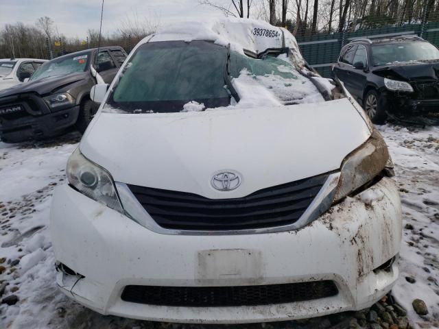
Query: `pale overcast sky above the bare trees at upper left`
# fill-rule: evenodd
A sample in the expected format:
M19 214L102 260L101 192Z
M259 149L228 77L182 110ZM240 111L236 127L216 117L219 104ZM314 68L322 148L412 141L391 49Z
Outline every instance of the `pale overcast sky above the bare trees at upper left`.
M49 16L60 34L85 38L87 29L99 29L101 1L0 0L0 28L5 23L34 24L38 17ZM218 10L198 5L198 0L104 0L102 32L114 32L134 12L160 26L223 16Z

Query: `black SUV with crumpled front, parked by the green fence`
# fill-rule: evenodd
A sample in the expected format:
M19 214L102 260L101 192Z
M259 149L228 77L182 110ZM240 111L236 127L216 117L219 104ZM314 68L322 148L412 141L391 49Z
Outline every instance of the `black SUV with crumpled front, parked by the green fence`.
M331 73L374 123L439 113L439 49L418 36L353 40Z

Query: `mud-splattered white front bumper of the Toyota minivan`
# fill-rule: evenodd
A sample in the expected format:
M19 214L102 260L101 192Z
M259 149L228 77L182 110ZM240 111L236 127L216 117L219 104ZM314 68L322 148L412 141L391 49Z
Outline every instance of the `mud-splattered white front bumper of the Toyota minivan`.
M84 276L58 271L69 297L105 315L187 323L244 323L317 317L360 310L388 293L396 265L376 270L399 252L401 204L383 178L371 205L347 198L305 228L245 235L167 235L139 226L69 186L51 207L56 260ZM255 255L254 261L237 250ZM216 254L214 262L206 254ZM376 271L374 271L374 269ZM80 279L80 280L78 280ZM124 302L128 285L228 287L333 280L338 294L305 302L264 306L180 307Z

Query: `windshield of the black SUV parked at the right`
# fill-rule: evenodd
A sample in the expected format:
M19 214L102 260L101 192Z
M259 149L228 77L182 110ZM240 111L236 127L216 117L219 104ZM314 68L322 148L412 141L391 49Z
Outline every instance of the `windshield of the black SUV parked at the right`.
M373 45L374 66L394 62L439 60L439 50L429 42L398 42L389 45Z

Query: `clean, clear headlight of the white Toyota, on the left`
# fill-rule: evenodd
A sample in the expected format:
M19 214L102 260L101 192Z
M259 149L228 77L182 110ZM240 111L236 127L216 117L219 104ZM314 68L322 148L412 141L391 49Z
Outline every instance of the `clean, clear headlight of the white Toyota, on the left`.
M80 193L123 213L110 173L75 149L67 162L67 179Z

